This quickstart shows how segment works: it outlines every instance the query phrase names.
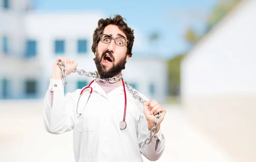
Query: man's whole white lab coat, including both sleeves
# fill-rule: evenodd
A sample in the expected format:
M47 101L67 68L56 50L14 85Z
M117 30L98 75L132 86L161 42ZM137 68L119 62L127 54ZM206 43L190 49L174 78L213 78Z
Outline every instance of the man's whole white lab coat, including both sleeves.
M76 162L143 162L141 153L151 161L159 159L165 147L165 138L160 130L149 145L144 144L150 131L143 105L126 90L127 127L120 130L125 104L123 87L117 87L108 95L95 81L91 87L93 93L81 116L76 113L80 89L64 96L62 81L51 79L44 98L45 128L53 134L73 130ZM84 91L79 100L78 113L84 108L88 96L89 90ZM140 96L145 98L141 93Z

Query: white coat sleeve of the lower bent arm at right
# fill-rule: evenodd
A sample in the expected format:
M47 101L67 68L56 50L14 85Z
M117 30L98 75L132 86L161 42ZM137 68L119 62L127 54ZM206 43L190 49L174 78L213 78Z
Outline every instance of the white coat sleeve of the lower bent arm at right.
M156 161L161 157L165 148L165 138L160 128L158 133L153 136L152 141L148 145L145 145L144 142L150 136L150 130L148 130L148 122L145 119L144 114L140 116L137 136L140 145L140 152L143 156L151 161Z

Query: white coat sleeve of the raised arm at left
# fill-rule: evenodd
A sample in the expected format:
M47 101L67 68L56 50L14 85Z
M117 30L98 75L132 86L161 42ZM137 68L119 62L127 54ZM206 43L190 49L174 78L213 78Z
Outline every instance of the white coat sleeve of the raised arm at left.
M50 79L49 88L44 97L44 127L47 132L61 134L74 127L74 94L64 95L62 80Z

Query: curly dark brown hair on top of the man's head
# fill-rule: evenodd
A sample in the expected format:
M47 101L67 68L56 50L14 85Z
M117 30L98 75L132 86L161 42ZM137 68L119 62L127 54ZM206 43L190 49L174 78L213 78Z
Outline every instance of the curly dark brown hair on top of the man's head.
M114 15L113 18L109 17L106 19L100 19L98 21L98 27L93 32L93 45L92 45L92 51L95 55L96 48L98 46L98 43L100 41L99 35L103 34L103 31L106 26L113 24L118 26L118 28L125 33L127 36L128 42L127 42L127 52L126 54L129 54L130 57L132 55L131 50L134 43L134 29L131 29L127 26L127 23L125 23L126 19L120 16L119 14Z

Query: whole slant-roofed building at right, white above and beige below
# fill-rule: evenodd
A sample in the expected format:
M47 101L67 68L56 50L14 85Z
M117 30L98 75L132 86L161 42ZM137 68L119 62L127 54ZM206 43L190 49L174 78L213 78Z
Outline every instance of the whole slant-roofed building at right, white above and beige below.
M234 162L256 162L256 1L244 0L181 65L191 122Z

